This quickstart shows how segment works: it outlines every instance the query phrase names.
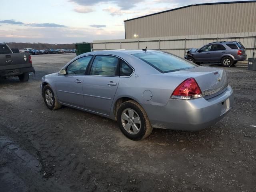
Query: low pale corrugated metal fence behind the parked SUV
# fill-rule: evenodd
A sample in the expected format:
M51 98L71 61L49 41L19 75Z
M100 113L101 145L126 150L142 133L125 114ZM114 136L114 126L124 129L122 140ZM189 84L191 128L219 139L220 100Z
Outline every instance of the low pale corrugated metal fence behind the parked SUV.
M186 39L186 40L185 40ZM116 39L116 40L94 40L93 49L148 49L167 51L184 57L185 50L190 48L200 48L205 44L215 41L240 41L246 47L246 53L252 57L256 44L256 32L229 33L229 34L209 34L209 35L188 35L169 36L155 38L138 39ZM160 45L160 46L159 46ZM254 55L255 57L256 55Z

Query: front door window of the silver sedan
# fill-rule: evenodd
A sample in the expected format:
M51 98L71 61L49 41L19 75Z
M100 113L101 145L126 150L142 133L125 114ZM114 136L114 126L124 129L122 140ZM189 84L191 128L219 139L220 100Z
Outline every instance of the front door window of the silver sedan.
M92 59L92 56L78 58L68 65L66 72L70 75L85 75L86 68Z

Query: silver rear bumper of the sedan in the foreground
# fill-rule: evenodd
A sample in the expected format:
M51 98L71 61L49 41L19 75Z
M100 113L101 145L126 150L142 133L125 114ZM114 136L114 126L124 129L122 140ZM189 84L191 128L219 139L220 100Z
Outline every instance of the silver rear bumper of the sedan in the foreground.
M170 99L166 106L143 106L154 128L196 131L211 126L232 108L233 90L230 86L220 95L205 100Z

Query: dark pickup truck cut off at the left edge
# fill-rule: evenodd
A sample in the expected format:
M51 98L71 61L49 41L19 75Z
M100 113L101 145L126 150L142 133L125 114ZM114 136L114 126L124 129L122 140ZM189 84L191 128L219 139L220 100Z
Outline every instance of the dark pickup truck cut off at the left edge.
M29 53L13 53L7 44L0 43L0 78L18 76L20 81L28 81L29 72L34 72Z

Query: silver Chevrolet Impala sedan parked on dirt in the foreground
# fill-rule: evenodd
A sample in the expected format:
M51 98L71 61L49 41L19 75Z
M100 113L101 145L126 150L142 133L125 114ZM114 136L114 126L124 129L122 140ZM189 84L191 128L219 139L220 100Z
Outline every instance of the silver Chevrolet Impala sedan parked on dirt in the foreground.
M62 105L117 120L132 140L152 128L201 130L233 105L226 72L153 50L81 54L42 78L46 106Z

